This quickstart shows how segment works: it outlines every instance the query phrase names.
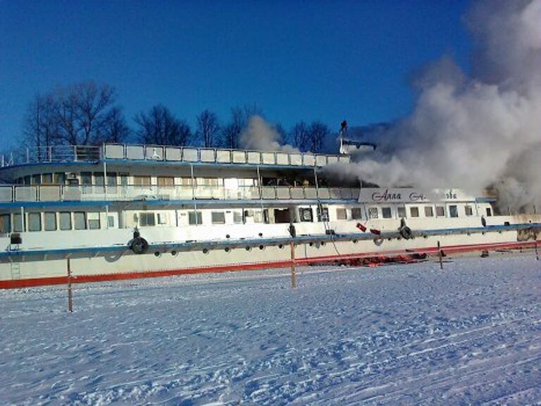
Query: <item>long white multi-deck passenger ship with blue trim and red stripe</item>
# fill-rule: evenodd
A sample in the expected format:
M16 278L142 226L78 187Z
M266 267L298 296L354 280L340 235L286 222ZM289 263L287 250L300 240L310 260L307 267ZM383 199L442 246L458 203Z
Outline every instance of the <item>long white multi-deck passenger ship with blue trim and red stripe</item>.
M459 189L325 175L350 159L142 144L27 149L1 162L0 288L537 248L538 214L500 215L495 197Z

